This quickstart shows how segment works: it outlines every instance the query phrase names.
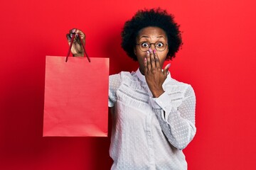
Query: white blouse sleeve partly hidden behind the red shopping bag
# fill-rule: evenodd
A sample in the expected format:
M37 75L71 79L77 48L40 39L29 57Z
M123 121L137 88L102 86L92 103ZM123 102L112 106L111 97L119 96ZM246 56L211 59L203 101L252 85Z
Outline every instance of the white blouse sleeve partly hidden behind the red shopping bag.
M117 101L117 89L121 84L121 73L113 74L109 79L109 98L108 106L111 108L114 106L114 103Z

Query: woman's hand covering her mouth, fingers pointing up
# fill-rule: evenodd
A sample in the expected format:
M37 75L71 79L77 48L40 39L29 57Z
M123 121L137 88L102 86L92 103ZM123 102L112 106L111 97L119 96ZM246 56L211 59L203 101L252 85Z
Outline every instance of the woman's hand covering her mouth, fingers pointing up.
M144 76L154 98L158 98L164 93L162 85L167 77L169 67L170 64L167 64L164 71L162 71L156 50L153 51L150 48L149 51L146 52L144 59Z

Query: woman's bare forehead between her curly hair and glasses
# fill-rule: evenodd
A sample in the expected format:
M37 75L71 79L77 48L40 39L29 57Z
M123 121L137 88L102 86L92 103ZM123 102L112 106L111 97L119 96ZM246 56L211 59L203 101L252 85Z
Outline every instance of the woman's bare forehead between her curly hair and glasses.
M146 27L139 30L137 38L157 38L164 37L166 38L166 33L163 29L158 27Z

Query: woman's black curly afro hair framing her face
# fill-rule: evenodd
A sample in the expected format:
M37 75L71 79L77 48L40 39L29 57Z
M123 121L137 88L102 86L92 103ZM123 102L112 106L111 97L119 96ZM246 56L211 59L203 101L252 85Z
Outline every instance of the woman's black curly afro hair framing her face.
M134 54L136 38L139 35L139 30L149 26L164 30L168 38L169 47L166 60L174 58L176 52L178 52L182 45L181 31L179 30L179 25L174 22L174 16L161 8L139 10L131 20L124 23L124 28L121 33L121 46L124 51L127 52L127 55L137 61L137 57Z

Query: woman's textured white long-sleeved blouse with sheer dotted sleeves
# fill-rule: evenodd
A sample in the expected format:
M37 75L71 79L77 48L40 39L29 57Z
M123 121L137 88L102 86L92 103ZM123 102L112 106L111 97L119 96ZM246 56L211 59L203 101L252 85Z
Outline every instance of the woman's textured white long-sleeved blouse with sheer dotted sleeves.
M182 149L196 134L196 97L192 87L168 75L164 94L152 98L139 72L110 76L112 170L183 170Z

